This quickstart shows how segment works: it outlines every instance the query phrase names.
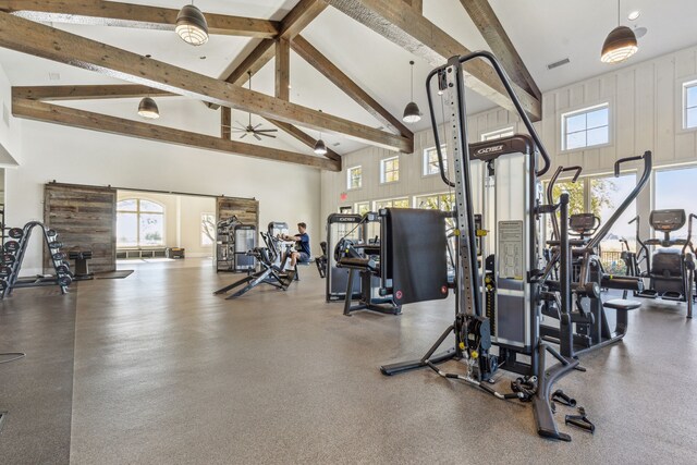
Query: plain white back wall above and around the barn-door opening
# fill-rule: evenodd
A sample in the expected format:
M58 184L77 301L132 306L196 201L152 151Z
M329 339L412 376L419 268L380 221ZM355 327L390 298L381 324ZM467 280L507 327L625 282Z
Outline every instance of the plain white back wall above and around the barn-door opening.
M321 227L315 169L33 121L23 121L22 137L21 166L7 176L11 225L42 220L44 184L57 180L256 197L260 225L302 218L310 233ZM24 273L40 272L40 246L27 250Z

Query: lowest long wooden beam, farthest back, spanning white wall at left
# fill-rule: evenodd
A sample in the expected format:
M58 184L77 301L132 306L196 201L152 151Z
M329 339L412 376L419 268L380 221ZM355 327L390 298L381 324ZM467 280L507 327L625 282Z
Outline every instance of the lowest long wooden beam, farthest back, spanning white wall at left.
M16 118L175 144L205 150L222 151L225 154L242 155L273 161L285 161L289 163L303 164L322 170L341 170L339 163L327 158L296 154L288 150L279 150L276 148L245 144L235 140L225 140L221 137L175 130L140 121L125 120L123 118L61 107L38 100L13 98L12 114Z

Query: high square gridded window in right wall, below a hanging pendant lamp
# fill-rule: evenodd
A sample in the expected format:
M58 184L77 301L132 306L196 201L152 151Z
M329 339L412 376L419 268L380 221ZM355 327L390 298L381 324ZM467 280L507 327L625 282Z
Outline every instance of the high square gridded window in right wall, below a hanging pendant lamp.
M592 147L610 142L608 103L562 114L562 150Z

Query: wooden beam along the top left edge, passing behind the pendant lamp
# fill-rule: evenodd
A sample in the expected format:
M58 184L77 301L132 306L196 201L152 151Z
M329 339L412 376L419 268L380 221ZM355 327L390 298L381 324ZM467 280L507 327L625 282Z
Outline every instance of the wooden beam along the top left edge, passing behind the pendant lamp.
M183 3L182 3L183 4ZM174 30L179 10L99 0L0 0L0 11L44 23ZM270 38L274 21L204 12L210 34Z

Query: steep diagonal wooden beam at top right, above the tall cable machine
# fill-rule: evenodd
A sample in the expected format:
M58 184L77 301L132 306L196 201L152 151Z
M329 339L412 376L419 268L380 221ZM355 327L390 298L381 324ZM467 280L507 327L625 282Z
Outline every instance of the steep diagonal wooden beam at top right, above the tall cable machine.
M511 79L540 99L542 94L488 0L460 0Z

